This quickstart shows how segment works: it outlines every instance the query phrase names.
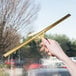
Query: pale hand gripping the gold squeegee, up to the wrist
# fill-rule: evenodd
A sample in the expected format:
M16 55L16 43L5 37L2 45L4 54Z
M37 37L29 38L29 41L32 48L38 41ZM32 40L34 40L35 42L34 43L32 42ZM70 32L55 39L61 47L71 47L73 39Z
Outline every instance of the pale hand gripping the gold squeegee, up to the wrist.
M63 49L59 45L59 43L55 40L51 39L42 39L41 42L41 51L45 50L45 52L48 53L50 56L56 56L60 60L63 60L64 57L66 56Z

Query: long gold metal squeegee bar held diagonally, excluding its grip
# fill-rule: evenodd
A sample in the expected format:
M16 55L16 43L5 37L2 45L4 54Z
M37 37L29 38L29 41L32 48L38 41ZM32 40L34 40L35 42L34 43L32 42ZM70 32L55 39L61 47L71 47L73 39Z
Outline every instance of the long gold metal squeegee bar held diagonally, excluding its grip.
M69 16L71 16L70 14L65 15L64 17L62 17L61 19L59 19L58 21L56 21L55 23L49 25L48 27L44 28L42 31L38 32L37 34L35 34L34 36L32 36L31 38L29 38L27 41L23 42L22 44L20 44L19 46L13 48L12 50L9 50L8 52L6 52L5 54L3 54L4 57L7 57L8 55L16 52L18 49L20 49L21 47L23 47L24 45L27 45L29 42L31 42L32 40L34 40L35 38L37 38L38 36L41 36L42 34L44 34L45 32L47 32L48 30L50 30L51 28L53 28L54 26L56 26L57 24L59 24L60 22L62 22L63 20L65 20L66 18L68 18Z

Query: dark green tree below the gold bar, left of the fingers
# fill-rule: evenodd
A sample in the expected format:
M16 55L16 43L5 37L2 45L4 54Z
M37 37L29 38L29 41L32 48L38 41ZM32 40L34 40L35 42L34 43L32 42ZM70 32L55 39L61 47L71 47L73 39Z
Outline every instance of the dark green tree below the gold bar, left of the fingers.
M28 39L27 39L28 40ZM27 41L26 39L24 40ZM40 53L39 48L39 40L33 40L28 45L25 45L20 49L20 54L22 59L24 58L36 58L40 59L42 58L42 55Z

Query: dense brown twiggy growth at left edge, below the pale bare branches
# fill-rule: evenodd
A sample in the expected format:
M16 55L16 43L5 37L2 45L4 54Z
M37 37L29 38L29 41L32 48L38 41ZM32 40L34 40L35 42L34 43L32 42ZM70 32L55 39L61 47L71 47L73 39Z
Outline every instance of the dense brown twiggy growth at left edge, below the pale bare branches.
M3 33L1 34L0 34L0 56L2 56L2 54L7 52L8 50L19 45L21 37L19 34L15 33L15 29L13 29L12 27L3 30Z

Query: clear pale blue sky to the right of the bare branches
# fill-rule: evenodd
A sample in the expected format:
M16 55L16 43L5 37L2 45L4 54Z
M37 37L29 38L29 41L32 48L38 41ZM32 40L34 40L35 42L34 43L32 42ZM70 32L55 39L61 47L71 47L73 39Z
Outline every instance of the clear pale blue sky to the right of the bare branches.
M65 34L76 39L76 0L40 0L40 11L35 21L35 32L56 22L66 14L69 18L50 29L48 34Z

